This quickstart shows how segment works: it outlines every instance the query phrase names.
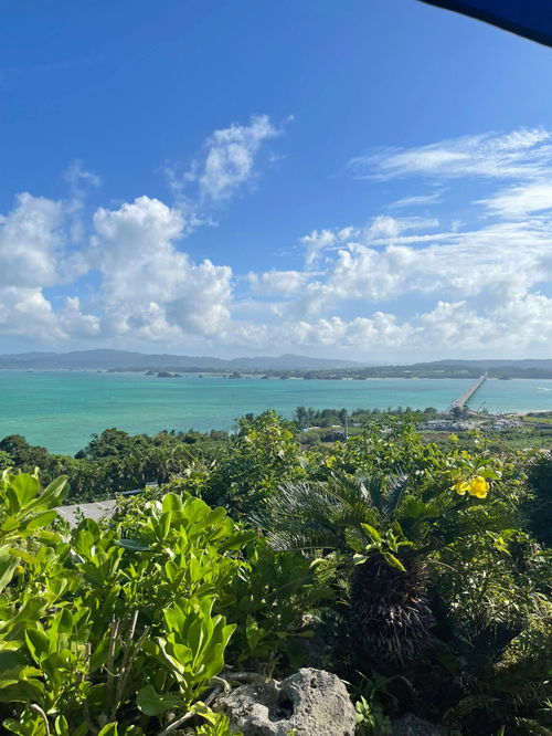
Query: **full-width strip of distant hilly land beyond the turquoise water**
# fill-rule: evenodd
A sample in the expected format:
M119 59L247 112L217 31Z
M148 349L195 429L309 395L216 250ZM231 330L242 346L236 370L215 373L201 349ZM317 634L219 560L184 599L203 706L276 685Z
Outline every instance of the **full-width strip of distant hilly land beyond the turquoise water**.
M174 374L242 374L261 378L304 378L351 380L368 378L477 378L487 372L489 378L552 379L552 359L481 359L434 360L411 365L370 365L339 358L311 358L300 355L278 357L213 358L185 355L147 355L128 350L75 350L72 353L21 353L1 355L0 369L25 370L108 370L137 371L150 376L176 377Z

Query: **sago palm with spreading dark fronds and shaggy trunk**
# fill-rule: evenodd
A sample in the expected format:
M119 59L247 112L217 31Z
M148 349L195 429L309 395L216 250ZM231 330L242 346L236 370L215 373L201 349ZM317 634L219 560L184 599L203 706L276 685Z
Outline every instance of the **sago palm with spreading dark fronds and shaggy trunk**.
M416 487L406 475L336 475L283 485L254 522L276 549L336 550L343 566L354 564L349 603L357 654L396 670L431 639L429 558L489 528L487 509L471 502L433 482ZM496 523L503 528L503 519Z

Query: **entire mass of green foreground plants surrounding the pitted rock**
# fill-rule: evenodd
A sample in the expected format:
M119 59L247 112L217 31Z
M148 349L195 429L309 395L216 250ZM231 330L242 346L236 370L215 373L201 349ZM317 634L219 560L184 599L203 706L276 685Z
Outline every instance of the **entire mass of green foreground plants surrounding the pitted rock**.
M219 694L300 666L349 683L359 735L404 713L450 735L550 733L552 454L428 441L423 412L352 417L108 430L74 459L4 439L4 465L31 471L0 484L4 733L231 736ZM349 437L301 443L316 422ZM54 508L73 480L50 477L68 461L94 493L160 486L70 529Z

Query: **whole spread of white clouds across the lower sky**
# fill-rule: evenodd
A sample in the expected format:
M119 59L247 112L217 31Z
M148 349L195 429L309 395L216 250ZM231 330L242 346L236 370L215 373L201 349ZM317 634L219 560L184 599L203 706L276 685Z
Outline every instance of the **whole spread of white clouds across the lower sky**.
M213 132L183 172L168 169L170 202L144 193L89 211L85 189L100 178L79 162L66 199L17 194L0 215L2 338L225 356L550 357L552 132L369 150L347 169L367 201L392 180L403 194L357 222L332 223L331 212L312 222L289 243L300 261L256 272L230 251L224 263L192 259L187 239L262 186L283 133L266 115Z

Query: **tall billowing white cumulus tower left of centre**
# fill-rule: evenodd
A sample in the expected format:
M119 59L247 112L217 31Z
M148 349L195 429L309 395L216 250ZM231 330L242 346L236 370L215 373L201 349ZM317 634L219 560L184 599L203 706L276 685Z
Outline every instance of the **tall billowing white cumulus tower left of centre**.
M139 197L94 215L94 265L103 274L106 327L156 339L182 330L216 335L229 318L232 270L197 264L176 246L181 213Z

